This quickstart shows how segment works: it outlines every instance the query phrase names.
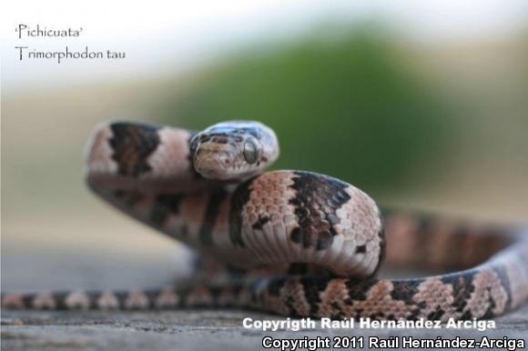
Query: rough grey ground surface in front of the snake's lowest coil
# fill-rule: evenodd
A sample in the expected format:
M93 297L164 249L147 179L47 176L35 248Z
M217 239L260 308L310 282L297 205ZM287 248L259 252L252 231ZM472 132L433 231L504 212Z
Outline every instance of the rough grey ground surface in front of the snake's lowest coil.
M242 319L273 316L238 311L191 310L163 313L5 312L5 350L248 350L263 348L264 336L414 336L416 338L528 338L528 306L496 319L496 328L476 329L312 329L263 332L245 329Z

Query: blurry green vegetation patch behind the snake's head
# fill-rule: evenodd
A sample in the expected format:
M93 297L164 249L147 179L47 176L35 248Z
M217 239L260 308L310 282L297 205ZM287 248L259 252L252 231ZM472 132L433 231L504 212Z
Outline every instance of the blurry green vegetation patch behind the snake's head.
M201 129L256 119L279 135L277 168L337 176L376 193L439 155L448 110L391 41L371 31L309 35L229 57L165 106Z

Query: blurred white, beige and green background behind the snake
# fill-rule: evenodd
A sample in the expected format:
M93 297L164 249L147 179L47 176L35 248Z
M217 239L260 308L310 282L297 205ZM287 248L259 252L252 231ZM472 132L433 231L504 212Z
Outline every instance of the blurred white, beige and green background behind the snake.
M108 119L257 119L279 135L277 168L340 177L380 204L528 220L522 0L72 6L5 5L3 289L153 286L183 269L175 243L87 192L83 147ZM21 40L20 23L84 29ZM18 61L20 44L127 57Z

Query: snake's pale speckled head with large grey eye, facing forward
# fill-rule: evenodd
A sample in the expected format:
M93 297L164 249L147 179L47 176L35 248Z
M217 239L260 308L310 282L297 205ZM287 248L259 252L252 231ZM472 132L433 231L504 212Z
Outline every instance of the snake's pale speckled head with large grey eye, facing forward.
M277 135L252 121L211 125L192 137L189 149L194 169L218 180L256 176L279 156Z

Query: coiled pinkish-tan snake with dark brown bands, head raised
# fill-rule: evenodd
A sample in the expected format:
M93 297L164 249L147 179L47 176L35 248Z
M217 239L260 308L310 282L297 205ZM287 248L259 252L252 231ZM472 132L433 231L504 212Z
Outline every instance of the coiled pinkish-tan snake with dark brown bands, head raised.
M471 320L528 300L528 230L379 207L340 179L266 169L275 132L256 121L201 131L97 125L86 184L194 250L188 283L145 290L3 294L4 308L239 308L291 317ZM381 278L381 266L430 276Z

